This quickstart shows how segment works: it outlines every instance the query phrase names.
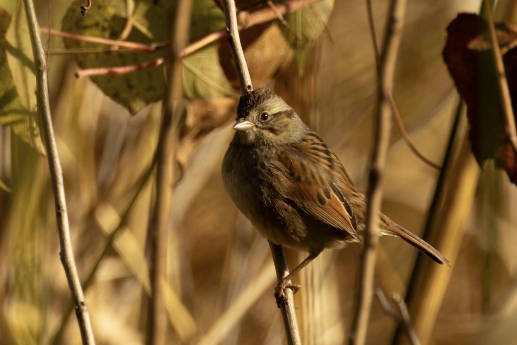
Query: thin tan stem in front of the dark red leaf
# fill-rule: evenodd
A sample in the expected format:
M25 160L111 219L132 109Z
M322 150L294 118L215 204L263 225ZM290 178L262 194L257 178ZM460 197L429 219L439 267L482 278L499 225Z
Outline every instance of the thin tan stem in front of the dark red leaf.
M515 117L513 115L512 100L510 97L510 90L508 89L508 82L506 80L505 65L503 64L503 56L499 48L497 34L495 32L494 17L492 16L492 4L489 0L484 0L486 17L488 19L488 26L490 30L490 41L492 43L492 52L494 53L494 64L497 71L497 81L499 85L499 92L501 94L501 103L506 120L506 133L512 143L513 150L517 152L517 130L515 130Z

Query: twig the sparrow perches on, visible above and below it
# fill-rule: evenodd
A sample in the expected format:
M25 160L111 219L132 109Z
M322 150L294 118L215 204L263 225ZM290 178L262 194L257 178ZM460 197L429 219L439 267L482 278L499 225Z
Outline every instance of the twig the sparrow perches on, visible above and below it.
M242 51L242 46L240 44L235 0L224 0L223 7L224 15L226 17L226 33L228 34L228 41L235 59L237 76L240 82L240 90L242 93L249 92L253 90L253 87L251 85L251 77L244 57L244 51ZM282 246L274 245L272 243L269 243L269 245L273 256L273 262L275 263L278 281L280 281L289 274L284 251ZM294 309L293 292L291 289L285 289L284 293L287 298L285 303L280 304L280 309L284 321L285 334L288 344L298 345L301 341Z

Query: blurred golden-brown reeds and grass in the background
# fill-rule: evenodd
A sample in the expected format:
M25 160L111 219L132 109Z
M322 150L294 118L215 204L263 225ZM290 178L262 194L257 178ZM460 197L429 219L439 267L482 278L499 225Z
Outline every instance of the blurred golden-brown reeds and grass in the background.
M69 4L54 3L51 27L61 29ZM95 10L93 4L87 16ZM36 6L40 25L47 26L48 3ZM499 1L496 20L517 24L512 6L510 0ZM445 29L458 12L479 12L479 8L480 1L407 3L393 96L409 137L439 165L459 103L441 55ZM386 11L387 2L373 1L379 42ZM301 52L302 60L300 51L289 46L281 24L250 29L267 31L268 36L261 37L276 53L276 70L268 74L255 67L252 77L255 88L275 89L297 110L364 191L376 100L366 4L338 1L329 14L326 29ZM42 37L46 42L47 35ZM256 38L246 42L261 44ZM222 40L219 54L224 70L233 68L226 46ZM63 48L62 38L50 37L51 52ZM249 54L250 67L265 64L261 54ZM95 269L85 298L96 340L143 343L143 296L149 286L144 252L154 197L153 178L145 176L156 147L161 104L130 114L92 80L74 78L80 68L74 55L51 54L49 67L54 126L82 281ZM231 71L226 73L232 84ZM186 98L194 98L187 84L185 88ZM224 98L186 102L185 117L178 125L181 179L171 186L167 263L170 343L286 342L273 298L275 271L267 241L239 213L221 180L222 157L233 135L236 98L232 95L238 91L226 92ZM210 121L214 123L207 124ZM420 255L421 271L429 272L433 281L420 277L415 294L421 303L409 309L414 311L415 328L427 334L423 343L513 344L517 343L517 190L492 162L479 168L464 140L466 126L462 114L429 239L452 267L432 267L434 263L425 262L427 258L402 240L382 238L376 285L387 295L405 296L408 284L414 283L411 272ZM438 174L410 152L394 127L383 212L421 235ZM11 189L0 190L0 342L80 343L59 261L48 164L9 127L0 127L0 180ZM360 253L359 245L327 250L300 275L302 289L295 303L303 343L347 341ZM286 254L292 268L306 255L289 249ZM429 307L427 300L433 296L437 300ZM436 308L435 317L433 311L426 312L428 307ZM392 343L396 328L396 320L375 300L367 342Z

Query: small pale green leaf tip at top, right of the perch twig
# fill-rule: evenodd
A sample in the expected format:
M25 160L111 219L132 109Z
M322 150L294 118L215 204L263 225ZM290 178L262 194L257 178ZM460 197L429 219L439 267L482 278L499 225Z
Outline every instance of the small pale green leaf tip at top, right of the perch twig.
M287 38L287 41L295 51L301 70L305 63L307 50L312 47L314 41L320 37L325 29L333 7L334 0L323 0L296 12L287 13L284 19L296 35L282 23L278 23L285 38Z

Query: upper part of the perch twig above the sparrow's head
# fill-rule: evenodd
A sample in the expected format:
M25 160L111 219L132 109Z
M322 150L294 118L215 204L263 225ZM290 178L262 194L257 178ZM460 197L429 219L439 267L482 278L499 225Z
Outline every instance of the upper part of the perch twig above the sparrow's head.
M244 94L252 91L251 77L246 60L244 58L244 51L240 44L239 27L237 25L237 9L235 8L235 0L224 0L224 17L226 18L226 34L228 35L228 42L232 50L233 58L235 60L235 67L237 69L237 76L240 82L240 90Z

